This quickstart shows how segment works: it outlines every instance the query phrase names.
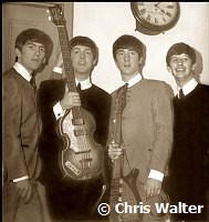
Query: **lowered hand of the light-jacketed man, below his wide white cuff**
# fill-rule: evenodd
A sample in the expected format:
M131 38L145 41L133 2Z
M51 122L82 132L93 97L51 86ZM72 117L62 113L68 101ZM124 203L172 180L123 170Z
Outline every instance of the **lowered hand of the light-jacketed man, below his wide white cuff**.
M155 180L153 178L148 178L145 184L145 191L147 198L153 198L157 194L160 194L161 190L161 181Z

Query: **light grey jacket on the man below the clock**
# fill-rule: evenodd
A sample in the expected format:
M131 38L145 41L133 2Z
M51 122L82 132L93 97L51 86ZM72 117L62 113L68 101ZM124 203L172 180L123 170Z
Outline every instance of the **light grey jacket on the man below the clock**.
M115 100L112 93L112 114L108 142L113 140ZM173 144L174 92L163 81L142 79L128 89L122 115L122 137L126 148L124 174L130 168L139 169L139 181L147 181L150 170L167 173ZM128 163L129 165L128 165Z

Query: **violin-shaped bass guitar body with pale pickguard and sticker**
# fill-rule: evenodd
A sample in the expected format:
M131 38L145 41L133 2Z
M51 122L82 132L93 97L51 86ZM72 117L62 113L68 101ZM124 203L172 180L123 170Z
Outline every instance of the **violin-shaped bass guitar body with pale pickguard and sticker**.
M60 132L64 148L60 154L63 176L72 180L96 178L103 171L103 148L93 139L95 121L90 112L81 109L82 121L67 111L60 120ZM75 121L74 121L75 120Z

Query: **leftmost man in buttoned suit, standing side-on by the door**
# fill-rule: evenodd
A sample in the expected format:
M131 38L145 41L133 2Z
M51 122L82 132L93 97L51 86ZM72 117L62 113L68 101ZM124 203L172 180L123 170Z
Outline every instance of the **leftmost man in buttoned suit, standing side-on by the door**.
M3 73L3 221L43 222L36 178L41 130L33 89L34 71L50 59L53 42L41 30L28 29L15 39L17 62Z

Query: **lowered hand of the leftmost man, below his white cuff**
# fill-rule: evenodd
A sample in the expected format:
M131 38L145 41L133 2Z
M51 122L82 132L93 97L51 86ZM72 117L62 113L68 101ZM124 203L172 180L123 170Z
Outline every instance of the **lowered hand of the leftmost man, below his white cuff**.
M15 182L18 195L29 203L32 198L32 185L29 179Z

